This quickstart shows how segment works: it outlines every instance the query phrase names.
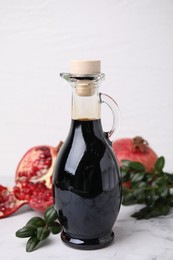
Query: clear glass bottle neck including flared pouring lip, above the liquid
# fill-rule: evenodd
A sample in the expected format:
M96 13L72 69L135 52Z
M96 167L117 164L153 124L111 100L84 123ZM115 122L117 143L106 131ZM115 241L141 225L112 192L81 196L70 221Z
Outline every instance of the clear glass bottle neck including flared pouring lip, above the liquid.
M100 119L101 103L98 88L104 79L104 74L61 73L60 76L72 86L72 119Z

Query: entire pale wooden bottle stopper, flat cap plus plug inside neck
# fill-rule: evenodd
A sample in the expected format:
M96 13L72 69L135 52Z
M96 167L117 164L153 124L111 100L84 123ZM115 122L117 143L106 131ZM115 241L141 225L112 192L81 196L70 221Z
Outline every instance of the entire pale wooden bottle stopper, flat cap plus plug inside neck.
M100 60L74 60L71 61L71 73L76 75L90 75L100 73ZM78 80L76 93L78 96L93 96L96 86L92 80Z

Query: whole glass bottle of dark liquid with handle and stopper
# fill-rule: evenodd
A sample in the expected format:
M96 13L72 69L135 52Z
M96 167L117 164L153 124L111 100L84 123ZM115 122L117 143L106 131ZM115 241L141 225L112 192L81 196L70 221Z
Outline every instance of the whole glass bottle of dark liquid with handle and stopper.
M99 93L104 78L100 61L73 61L61 73L72 86L72 120L53 173L55 208L63 226L61 239L78 249L109 245L121 204L121 177L111 147L118 107ZM104 133L101 104L112 110L113 126Z

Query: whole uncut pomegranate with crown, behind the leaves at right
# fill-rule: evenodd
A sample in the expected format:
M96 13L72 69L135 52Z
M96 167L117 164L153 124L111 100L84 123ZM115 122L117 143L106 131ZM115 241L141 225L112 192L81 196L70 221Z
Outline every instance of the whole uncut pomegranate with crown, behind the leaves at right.
M118 139L113 142L112 148L120 165L122 160L140 162L144 165L146 172L154 169L158 158L148 142L140 136Z

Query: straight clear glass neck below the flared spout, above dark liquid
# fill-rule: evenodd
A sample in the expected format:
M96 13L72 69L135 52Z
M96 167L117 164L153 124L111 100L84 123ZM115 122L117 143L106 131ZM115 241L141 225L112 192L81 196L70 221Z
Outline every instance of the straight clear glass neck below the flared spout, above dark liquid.
M101 117L98 86L76 84L72 94L72 119L95 120Z

